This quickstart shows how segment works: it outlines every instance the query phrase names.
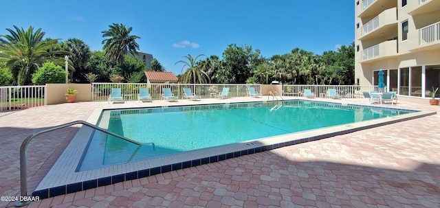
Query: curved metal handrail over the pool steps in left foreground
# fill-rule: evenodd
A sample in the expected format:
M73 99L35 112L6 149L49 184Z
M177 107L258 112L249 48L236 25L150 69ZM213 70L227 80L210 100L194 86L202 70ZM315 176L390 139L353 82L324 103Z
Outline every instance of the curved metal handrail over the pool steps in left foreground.
M21 191L21 196L28 196L28 164L27 164L27 159L26 159L26 148L28 148L28 143L34 139L34 137L41 135L45 132L50 132L52 130L58 130L60 128L65 128L67 126L72 126L75 124L83 124L84 126L89 126L90 128L94 128L96 130L100 130L102 132L105 132L109 135L112 135L113 137L118 137L119 139L124 139L125 141L129 141L131 143L136 144L137 146L142 146L142 143L134 141L132 139L126 138L126 137L122 137L120 135L117 135L113 132L110 132L109 130L106 130L104 128L100 128L98 126L95 126L94 124L90 124L87 123L83 120L78 120L78 121L74 121L74 122L69 122L66 124L61 124L58 126L52 126L49 128L43 128L41 130L36 130L34 131L31 135L29 135L28 137L26 137L26 139L23 141L23 143L21 143L21 147L20 147L20 191ZM150 142L153 145L153 150L155 150L155 144L153 142ZM149 144L149 143L144 143L144 144ZM19 200L17 202L17 204L15 205L15 207L23 207L24 205L28 205L31 201L30 200L25 200L25 201L21 201Z

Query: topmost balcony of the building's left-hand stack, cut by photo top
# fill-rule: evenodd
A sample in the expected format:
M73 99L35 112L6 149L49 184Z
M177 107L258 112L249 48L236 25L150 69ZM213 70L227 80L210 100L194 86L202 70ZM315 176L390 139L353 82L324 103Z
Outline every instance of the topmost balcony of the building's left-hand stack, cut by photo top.
M358 9L359 18L368 18L369 16L377 16L380 12L389 8L397 8L397 1L390 0L364 0Z

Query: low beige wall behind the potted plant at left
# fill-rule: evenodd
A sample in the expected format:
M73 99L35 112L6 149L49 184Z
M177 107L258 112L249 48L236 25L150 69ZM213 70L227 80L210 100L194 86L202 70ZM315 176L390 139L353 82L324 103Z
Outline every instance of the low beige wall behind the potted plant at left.
M91 84L46 84L45 102L47 105L66 102L66 89L76 89L76 101L91 101Z

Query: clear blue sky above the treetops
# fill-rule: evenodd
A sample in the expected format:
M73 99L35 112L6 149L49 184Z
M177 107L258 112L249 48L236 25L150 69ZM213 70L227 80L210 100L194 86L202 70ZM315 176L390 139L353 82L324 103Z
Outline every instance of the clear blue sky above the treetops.
M4 1L0 34L13 25L41 28L45 37L78 38L102 49L112 23L133 27L140 50L176 75L190 54L217 55L228 45L251 45L270 58L298 47L315 54L354 40L353 1L177 0ZM201 57L205 59L205 57Z

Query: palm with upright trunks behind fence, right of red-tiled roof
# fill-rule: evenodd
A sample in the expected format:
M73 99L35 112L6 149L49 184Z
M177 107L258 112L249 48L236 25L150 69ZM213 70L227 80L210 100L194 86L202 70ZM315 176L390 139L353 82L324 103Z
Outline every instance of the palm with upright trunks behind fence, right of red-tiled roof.
M192 58L192 56L190 54L188 54L188 56L183 56L183 58L187 58L189 62L179 60L178 62L175 63L175 65L177 65L178 63L184 64L184 66L181 67L182 72L184 71L185 67L188 67L188 69L186 69L185 73L181 74L178 82L191 83L191 84L196 84L196 83L206 84L206 83L211 82L206 71L203 71L199 67L197 67L196 60L200 56L205 56L205 55L200 54L199 56Z

